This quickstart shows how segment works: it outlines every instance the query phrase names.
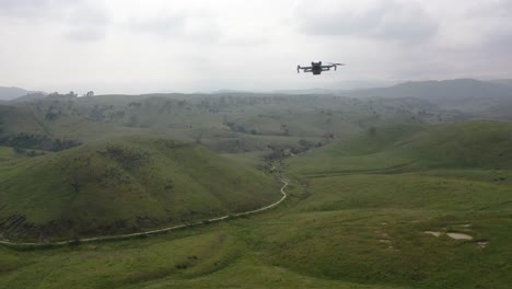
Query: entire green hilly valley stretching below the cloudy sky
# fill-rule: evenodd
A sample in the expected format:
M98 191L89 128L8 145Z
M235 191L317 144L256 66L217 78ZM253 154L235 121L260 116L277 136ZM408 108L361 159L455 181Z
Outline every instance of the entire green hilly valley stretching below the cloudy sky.
M512 124L416 96L2 105L0 288L508 288Z

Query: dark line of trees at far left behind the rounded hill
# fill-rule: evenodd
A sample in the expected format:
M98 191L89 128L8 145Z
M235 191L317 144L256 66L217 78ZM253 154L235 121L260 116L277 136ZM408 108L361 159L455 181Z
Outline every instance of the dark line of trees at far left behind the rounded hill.
M14 149L33 149L45 151L61 151L80 146L81 142L70 139L51 139L44 135L18 134L0 138L0 146Z

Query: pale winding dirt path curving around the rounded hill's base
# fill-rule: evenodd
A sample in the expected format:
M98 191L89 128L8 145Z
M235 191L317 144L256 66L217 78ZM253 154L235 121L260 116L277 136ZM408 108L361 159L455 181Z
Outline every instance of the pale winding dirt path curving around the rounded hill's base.
M66 241L46 242L46 243L35 243L35 242L34 243L18 243L18 242L10 242L10 241L0 241L0 244L15 245L15 246L67 245L67 244L75 243L75 242L86 243L86 242L94 242L94 241L104 241L104 240L114 240L114 239L128 239L128 238L132 238L132 236L151 235L151 234L168 232L168 231L173 231L173 230L177 230L177 229L182 229L182 228L194 227L194 226L198 226L198 224L219 222L219 221L225 220L225 219L228 219L230 217L246 216L246 215L268 210L268 209L274 208L277 205L281 204L281 201L283 201L287 198L287 193L284 193L284 188L288 186L290 181L288 181L286 178L281 178L281 182L283 183L283 186L280 189L282 197L278 201L276 201L276 203L274 203L271 205L268 205L266 207L256 209L256 210L251 210L251 211L245 211L245 212L240 212L240 213L233 213L233 215L226 215L226 216L222 216L222 217L219 217L219 218L209 219L207 221L198 221L198 222L194 222L194 223L183 223L183 224L167 227L167 228L163 228L163 229L156 229L156 230L152 230L152 231L131 233L131 234L94 236L94 238L84 238L84 239L78 239L78 240L66 240Z

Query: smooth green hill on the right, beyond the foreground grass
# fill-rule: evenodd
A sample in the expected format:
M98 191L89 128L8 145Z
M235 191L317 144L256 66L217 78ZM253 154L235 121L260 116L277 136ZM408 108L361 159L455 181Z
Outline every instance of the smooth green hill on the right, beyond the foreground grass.
M470 122L369 129L289 161L305 175L426 169L511 169L512 124Z

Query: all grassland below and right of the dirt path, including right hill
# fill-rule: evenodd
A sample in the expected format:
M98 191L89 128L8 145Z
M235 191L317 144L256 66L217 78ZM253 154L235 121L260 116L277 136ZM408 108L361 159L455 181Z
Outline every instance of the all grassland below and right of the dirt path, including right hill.
M293 182L270 211L146 239L0 247L0 288L509 288L510 129L394 126L340 139L275 163Z

